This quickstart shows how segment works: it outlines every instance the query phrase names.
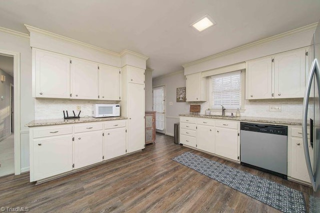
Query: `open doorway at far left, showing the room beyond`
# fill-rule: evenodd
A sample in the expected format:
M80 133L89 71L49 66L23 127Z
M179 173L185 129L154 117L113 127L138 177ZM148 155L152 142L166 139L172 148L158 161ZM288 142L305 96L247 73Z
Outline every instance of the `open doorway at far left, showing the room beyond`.
M13 60L0 54L0 176L14 173Z

